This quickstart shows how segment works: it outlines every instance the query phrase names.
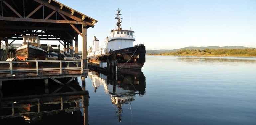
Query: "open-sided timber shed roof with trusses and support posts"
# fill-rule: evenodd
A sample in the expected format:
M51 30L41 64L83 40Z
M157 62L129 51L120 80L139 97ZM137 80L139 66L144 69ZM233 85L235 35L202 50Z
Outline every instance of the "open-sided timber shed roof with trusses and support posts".
M59 41L64 51L78 58L80 35L84 69L87 68L87 28L93 28L95 23L97 20L56 0L0 0L2 44L14 44L16 40L22 40L23 35L37 35L48 43Z

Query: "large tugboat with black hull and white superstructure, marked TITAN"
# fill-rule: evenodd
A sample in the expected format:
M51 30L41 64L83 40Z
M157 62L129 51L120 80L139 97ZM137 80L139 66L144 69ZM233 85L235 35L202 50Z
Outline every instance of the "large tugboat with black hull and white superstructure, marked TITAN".
M99 40L94 36L92 46L89 47L87 59L88 67L106 68L109 60L116 60L118 68L139 69L146 62L146 49L143 44L133 46L135 41L134 31L123 30L121 26L121 10L117 10L116 28L111 30L110 36L106 37L103 46L99 46Z

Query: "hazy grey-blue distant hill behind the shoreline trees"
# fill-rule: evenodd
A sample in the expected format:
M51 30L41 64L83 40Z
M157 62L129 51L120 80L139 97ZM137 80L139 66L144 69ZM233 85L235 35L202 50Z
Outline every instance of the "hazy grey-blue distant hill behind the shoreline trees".
M189 47L184 47L184 48L180 48L180 49L173 49L173 50L166 50L166 49L161 49L161 50L146 50L146 54L160 54L160 53L170 53L170 52L175 52L178 50L183 50L183 49L189 49L189 50L204 50L205 48L209 48L209 49L245 49L245 48L249 48L249 47L244 47L244 46L223 46L223 47L219 47L219 46L207 46L207 47L194 47L194 46L189 46Z

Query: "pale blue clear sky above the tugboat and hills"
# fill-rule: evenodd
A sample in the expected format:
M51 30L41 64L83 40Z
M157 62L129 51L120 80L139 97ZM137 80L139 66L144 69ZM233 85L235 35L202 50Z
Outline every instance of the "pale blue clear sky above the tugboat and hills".
M135 31L134 45L147 50L188 46L256 48L256 0L57 0L98 22L87 29L87 48L94 36L100 46L115 28ZM79 35L79 51L82 51Z

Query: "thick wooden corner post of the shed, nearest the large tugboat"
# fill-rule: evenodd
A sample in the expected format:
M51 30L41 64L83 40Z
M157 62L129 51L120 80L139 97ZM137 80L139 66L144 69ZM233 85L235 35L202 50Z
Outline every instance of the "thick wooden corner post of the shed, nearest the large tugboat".
M82 42L82 48L83 48L83 70L87 69L87 28L86 28L86 24L83 24L83 29L82 29L82 34L83 34L83 42Z

